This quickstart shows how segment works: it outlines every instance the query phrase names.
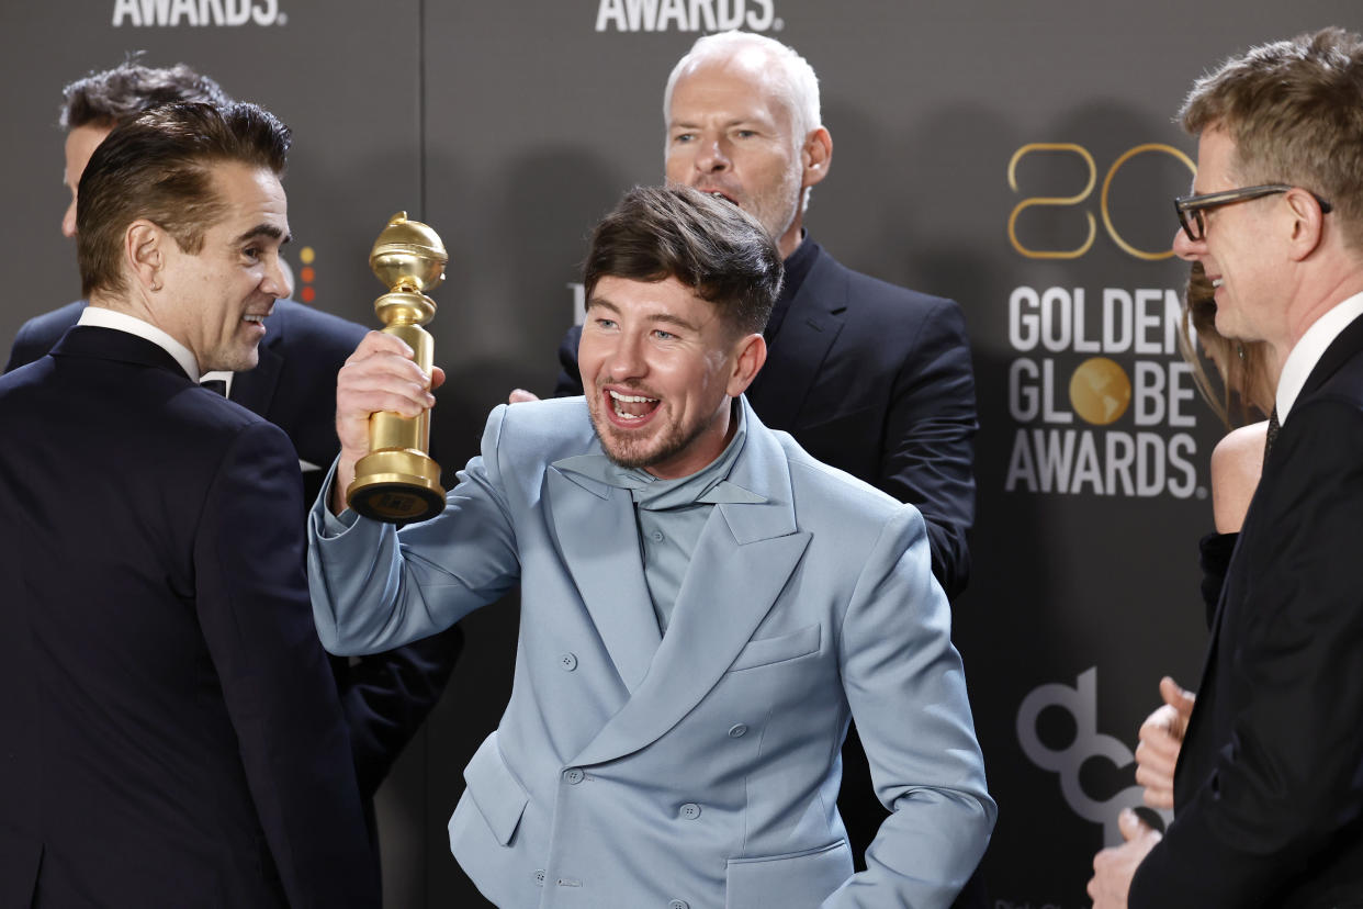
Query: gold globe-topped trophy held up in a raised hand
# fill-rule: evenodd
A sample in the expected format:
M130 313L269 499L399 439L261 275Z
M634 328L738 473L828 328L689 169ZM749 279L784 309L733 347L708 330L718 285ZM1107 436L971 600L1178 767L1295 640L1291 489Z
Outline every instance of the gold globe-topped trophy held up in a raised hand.
M369 252L369 267L388 293L373 301L383 334L402 338L414 360L431 372L433 341L423 328L435 316L425 296L444 281L450 260L440 236L399 211L388 219ZM403 417L380 412L369 417L369 454L354 465L346 504L365 518L388 523L425 521L444 511L440 465L431 459L431 412Z

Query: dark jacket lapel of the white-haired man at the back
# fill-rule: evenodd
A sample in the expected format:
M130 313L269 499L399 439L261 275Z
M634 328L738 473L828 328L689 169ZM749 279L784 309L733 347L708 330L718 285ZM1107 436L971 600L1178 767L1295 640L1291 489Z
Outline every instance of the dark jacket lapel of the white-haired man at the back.
M766 365L748 388L748 399L773 429L791 429L810 395L829 349L842 331L848 279L822 249L791 301Z

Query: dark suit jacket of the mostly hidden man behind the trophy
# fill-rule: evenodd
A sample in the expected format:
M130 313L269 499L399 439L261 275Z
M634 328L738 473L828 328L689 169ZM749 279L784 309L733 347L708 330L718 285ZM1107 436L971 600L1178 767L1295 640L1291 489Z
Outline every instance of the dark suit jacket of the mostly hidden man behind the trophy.
M48 353L82 309L85 301L78 300L26 322L15 335L5 372ZM337 371L365 328L292 300L277 300L264 326L260 363L236 373L232 399L284 429L298 458L322 467L304 474L304 497L311 503L341 447L335 433ZM379 789L439 700L462 643L459 630L451 628L429 641L365 657L353 666L346 660L331 661L360 789L367 797Z

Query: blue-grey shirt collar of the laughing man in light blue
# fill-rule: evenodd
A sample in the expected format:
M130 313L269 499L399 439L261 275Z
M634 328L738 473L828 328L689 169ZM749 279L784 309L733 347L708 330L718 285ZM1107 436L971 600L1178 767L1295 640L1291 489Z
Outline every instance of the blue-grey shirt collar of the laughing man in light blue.
M552 466L617 489L628 489L641 508L662 511L690 504L762 503L765 496L729 481L733 463L747 442L744 407L735 399L737 429L718 458L687 477L661 480L641 467L622 467L605 454L583 454L555 461Z

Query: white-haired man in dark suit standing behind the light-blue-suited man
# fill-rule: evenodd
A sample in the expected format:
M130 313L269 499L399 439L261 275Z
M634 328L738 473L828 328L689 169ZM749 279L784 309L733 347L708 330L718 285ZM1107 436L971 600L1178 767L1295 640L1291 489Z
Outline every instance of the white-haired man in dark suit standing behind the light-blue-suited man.
M668 181L754 215L785 260L763 331L770 356L747 391L752 409L819 461L916 506L932 574L954 597L969 576L975 519L975 375L960 308L852 271L806 234L833 139L818 78L791 48L739 31L701 38L672 70L662 117ZM559 397L582 394L581 335L574 327L559 348ZM848 741L838 804L860 863L885 811L868 795L855 730ZM972 883L965 899L983 905L977 894Z

